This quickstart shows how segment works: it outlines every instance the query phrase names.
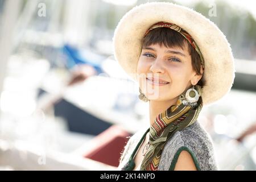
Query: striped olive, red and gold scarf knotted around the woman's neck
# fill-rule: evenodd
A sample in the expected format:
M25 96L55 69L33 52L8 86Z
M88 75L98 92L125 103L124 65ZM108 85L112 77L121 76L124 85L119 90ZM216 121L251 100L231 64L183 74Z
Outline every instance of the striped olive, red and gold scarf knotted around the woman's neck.
M201 92L199 85L196 90ZM185 99L185 92L179 96L176 105L170 106L166 111L160 113L155 118L154 123L150 127L149 148L142 160L141 171L158 170L160 156L168 139L170 139L176 131L185 129L192 125L203 107L203 100L199 97L196 106L185 106L182 101Z

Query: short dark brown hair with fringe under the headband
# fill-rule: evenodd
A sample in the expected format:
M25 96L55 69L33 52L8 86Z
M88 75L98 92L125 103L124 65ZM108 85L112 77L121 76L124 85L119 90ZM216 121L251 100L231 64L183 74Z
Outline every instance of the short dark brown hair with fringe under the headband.
M189 55L191 55L192 68L196 71L197 75L201 75L201 59L199 53L196 52L195 48L191 46L187 39L184 38L179 32L170 28L155 28L148 32L148 34L142 39L142 48L151 46L152 44L162 44L166 47L188 47ZM204 74L202 78L197 82L201 88L205 85Z

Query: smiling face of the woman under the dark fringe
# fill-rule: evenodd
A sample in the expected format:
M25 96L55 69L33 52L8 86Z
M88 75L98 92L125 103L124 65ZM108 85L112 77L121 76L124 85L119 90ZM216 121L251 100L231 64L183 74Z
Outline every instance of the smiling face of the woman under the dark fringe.
M139 86L149 100L172 100L195 85L201 75L192 68L187 46L168 48L163 44L144 47L137 65Z

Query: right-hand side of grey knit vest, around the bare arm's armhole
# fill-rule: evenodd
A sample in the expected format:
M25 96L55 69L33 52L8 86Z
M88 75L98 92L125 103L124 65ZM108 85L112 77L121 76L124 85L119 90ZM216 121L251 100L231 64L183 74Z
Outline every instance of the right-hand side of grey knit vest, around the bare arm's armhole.
M164 146L159 169L174 169L182 151L190 154L197 170L217 170L212 140L199 122L177 131ZM184 153L184 152L183 152Z

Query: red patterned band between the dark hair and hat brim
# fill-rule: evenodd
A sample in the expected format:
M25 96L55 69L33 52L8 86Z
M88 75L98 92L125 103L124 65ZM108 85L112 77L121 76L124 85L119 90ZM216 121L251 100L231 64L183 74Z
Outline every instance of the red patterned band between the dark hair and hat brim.
M188 42L191 44L191 46L193 48L195 48L196 52L199 54L200 56L200 59L201 59L201 64L203 66L203 69L204 69L204 58L203 58L203 55L199 49L199 47L197 46L196 42L192 39L192 36L188 34L188 32L186 32L185 30L183 30L182 28L180 28L179 26L177 26L176 24L174 23L168 23L168 22L158 22L158 23L155 23L153 24L147 31L146 33L144 34L144 37L153 29L155 28L171 28L172 30L175 30L177 32L179 32L182 36L184 36L184 38L186 40L188 40Z

